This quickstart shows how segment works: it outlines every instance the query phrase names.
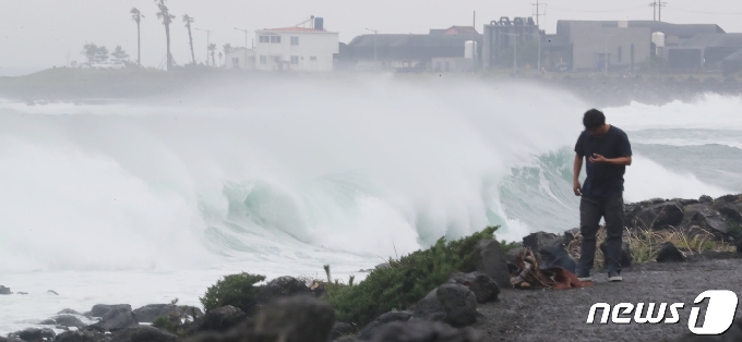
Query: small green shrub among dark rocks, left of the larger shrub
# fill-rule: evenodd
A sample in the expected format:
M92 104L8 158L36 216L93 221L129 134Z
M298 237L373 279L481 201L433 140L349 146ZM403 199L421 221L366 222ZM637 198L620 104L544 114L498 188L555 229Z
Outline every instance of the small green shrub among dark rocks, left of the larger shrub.
M224 279L208 288L204 296L199 297L199 301L206 310L231 305L249 313L253 305L253 297L261 288L255 286L255 284L263 280L265 280L265 276L247 272L225 276Z

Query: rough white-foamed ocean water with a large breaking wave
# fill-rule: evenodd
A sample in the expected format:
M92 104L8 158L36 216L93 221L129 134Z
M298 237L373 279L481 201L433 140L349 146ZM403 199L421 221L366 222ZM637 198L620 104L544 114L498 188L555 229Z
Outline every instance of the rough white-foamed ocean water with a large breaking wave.
M741 103L605 109L635 152L625 199L742 192ZM0 335L99 303L200 306L239 271L363 278L443 235L574 228L586 109L528 85L385 76L1 101L0 284L28 294L0 296Z

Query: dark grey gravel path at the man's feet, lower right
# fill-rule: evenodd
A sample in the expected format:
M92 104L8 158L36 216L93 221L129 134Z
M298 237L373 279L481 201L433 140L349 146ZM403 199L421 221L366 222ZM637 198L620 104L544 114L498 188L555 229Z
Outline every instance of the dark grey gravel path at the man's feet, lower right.
M703 258L682 264L646 264L624 269L624 281L609 283L605 273L595 285L575 290L507 290L500 302L479 306L474 326L491 341L661 341L689 333L695 297L706 290L730 290L742 300L742 255ZM595 303L685 303L677 325L587 325ZM704 317L705 304L699 317ZM646 308L645 308L646 310ZM669 310L668 310L669 312ZM669 315L669 314L668 314ZM599 315L598 315L599 316ZM633 316L633 315L632 315ZM737 308L742 317L742 305ZM699 318L699 320L703 318ZM597 319L597 321L599 318Z

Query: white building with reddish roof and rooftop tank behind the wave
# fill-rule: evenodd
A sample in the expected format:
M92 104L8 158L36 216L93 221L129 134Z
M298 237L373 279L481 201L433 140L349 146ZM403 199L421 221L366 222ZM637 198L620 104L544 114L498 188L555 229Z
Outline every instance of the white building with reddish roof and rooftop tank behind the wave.
M255 70L333 71L338 34L326 32L322 19L314 27L283 27L255 32Z

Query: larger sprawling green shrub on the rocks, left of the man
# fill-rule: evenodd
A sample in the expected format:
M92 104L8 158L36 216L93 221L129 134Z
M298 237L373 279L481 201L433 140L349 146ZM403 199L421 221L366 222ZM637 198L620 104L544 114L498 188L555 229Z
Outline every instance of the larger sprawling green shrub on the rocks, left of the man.
M476 244L492 239L498 228L488 227L448 243L441 237L428 249L390 258L390 267L374 269L358 284L326 289L337 320L362 327L390 310L409 308L453 272L474 271Z

